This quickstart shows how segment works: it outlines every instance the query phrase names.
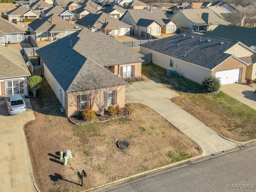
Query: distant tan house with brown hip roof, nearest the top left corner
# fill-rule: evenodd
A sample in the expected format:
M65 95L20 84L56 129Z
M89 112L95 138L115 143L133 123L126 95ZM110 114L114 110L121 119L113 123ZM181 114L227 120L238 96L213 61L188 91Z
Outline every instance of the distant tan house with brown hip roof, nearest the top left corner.
M17 8L9 11L7 14L7 20L12 21L12 19L16 19L17 21L23 21L24 18L39 18L39 14L26 8L25 6L18 6Z

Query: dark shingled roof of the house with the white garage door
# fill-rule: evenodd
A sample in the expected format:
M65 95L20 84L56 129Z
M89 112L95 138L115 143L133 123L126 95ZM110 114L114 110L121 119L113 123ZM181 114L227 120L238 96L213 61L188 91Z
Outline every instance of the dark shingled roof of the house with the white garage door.
M191 38L191 36L194 36L194 38ZM223 42L223 44L220 44L220 42ZM234 40L186 32L140 46L212 70L231 56L224 52L237 43L238 41Z

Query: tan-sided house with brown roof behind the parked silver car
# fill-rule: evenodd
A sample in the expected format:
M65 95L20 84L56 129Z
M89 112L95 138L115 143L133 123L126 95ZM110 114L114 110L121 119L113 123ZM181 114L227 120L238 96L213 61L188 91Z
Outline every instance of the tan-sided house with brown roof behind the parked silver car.
M0 46L0 95L28 95L27 79L31 76L18 49Z

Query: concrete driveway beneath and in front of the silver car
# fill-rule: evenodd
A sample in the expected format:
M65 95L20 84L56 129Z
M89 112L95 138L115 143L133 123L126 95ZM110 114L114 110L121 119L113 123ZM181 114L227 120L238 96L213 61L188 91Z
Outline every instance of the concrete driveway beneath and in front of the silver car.
M26 113L10 116L4 101L0 101L0 192L37 191L23 131L24 124L35 116L30 100L25 102Z

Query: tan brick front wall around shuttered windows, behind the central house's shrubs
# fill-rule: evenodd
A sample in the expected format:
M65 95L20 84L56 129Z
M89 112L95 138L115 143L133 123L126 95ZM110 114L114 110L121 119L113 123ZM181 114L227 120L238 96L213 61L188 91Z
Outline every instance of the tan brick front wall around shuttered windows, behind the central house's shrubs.
M125 85L113 87L110 88L110 90L117 90L117 98L116 98L116 104L119 105L120 108L124 108L125 105ZM107 91L107 89L102 89L101 94L104 94L104 91ZM85 92L75 92L75 93L65 93L65 113L66 116L70 117L73 115L77 115L77 96L81 94L86 94ZM92 101L91 101L92 103ZM107 108L107 107L106 107ZM98 112L98 107L96 106L95 102L92 106L92 110L95 112Z

